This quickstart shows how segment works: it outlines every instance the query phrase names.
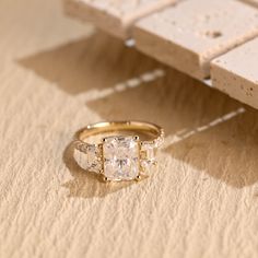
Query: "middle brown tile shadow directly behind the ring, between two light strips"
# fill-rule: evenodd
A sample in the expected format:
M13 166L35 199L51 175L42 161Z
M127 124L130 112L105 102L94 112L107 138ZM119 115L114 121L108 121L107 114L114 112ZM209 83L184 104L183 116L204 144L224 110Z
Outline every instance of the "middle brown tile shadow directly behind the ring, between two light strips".
M167 136L242 107L238 102L174 69L164 68L164 73L165 77L136 87L89 101L86 106L104 120L137 119L159 124Z

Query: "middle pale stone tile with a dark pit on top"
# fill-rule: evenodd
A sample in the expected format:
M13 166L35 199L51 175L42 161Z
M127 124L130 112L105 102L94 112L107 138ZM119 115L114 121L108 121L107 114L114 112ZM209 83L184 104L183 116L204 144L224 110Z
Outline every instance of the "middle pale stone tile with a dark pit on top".
M197 79L212 59L258 35L258 10L233 0L188 0L139 21L137 48Z

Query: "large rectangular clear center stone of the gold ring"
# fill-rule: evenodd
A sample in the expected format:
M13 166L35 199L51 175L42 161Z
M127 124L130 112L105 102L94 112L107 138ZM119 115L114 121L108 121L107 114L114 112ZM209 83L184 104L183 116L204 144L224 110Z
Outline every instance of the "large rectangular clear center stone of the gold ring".
M134 137L108 137L103 143L104 175L131 180L139 175L139 142Z

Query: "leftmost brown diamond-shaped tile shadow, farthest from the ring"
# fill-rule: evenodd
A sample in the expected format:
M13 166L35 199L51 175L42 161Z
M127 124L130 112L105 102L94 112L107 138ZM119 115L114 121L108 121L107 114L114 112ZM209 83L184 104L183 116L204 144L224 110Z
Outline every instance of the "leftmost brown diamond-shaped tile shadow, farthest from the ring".
M17 63L69 94L110 87L159 66L103 32L23 57Z

